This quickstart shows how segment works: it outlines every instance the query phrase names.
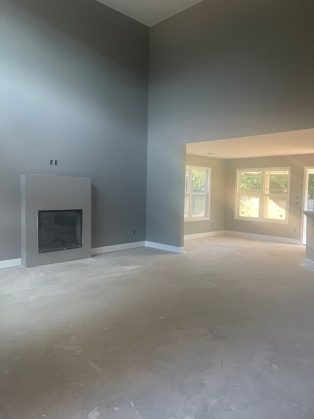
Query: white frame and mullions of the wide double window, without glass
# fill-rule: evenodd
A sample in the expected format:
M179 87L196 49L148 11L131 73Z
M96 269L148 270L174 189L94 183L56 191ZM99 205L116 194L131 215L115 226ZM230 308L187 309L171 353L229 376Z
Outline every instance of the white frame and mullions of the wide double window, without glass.
M272 171L272 170L286 170L289 172L288 174L288 191L287 191L287 207L286 207L286 220L275 220L271 218L264 218L264 208L265 202L268 195L265 194L265 172ZM238 216L238 209L240 204L240 174L243 171L261 171L262 172L262 182L261 182L261 194L257 194L260 196L260 203L259 203L259 217L240 217ZM236 177L235 177L235 220L242 220L242 221L251 221L257 223L277 223L277 224L288 224L288 216L289 216L289 196L290 196L290 179L291 179L291 167L280 167L280 168L238 168L236 169ZM276 195L273 195L276 196Z

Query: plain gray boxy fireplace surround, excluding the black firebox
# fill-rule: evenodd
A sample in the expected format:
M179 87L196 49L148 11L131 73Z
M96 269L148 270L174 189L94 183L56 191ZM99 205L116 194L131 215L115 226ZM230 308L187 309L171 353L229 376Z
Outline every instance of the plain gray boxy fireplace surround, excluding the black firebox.
M82 210L82 247L38 251L38 211ZM91 178L21 175L21 255L25 267L91 256Z

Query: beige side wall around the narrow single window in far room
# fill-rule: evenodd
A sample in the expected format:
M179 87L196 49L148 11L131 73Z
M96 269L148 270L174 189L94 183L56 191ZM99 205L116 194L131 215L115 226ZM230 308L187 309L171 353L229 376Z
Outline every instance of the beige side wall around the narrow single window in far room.
M211 168L211 173L210 219L184 221L184 235L224 230L226 160L187 154L185 164L187 166Z

